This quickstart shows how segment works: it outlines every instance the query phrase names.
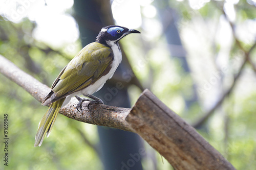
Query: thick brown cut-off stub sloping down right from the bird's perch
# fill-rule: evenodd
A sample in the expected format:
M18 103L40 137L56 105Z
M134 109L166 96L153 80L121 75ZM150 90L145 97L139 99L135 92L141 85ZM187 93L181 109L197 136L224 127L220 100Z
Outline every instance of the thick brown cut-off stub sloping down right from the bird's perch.
M126 121L175 169L234 169L197 131L145 90Z

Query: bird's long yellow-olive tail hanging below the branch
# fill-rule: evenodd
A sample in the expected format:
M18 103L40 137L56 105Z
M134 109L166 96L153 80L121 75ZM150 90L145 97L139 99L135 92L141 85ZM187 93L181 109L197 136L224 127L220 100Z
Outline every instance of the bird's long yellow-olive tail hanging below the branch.
M53 124L56 120L56 117L59 113L59 109L62 106L63 102L66 98L60 99L59 101L53 102L49 109L47 110L46 114L42 116L39 125L38 130L35 135L35 145L34 147L37 147L42 144L42 141L45 138L45 135L48 137L52 131Z

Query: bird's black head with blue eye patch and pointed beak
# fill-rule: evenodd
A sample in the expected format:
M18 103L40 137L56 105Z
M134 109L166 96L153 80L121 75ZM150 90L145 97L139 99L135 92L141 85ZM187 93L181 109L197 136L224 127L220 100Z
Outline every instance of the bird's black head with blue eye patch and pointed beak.
M131 33L140 33L137 30L129 30L125 27L120 26L107 26L103 27L96 37L96 42L112 46L112 44L117 43L124 36Z

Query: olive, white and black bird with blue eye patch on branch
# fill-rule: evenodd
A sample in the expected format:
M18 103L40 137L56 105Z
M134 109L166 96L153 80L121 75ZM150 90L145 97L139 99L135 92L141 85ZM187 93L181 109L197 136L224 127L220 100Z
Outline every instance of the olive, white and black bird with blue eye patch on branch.
M78 111L84 101L90 101L88 108L91 104L103 104L101 99L92 94L112 78L122 60L118 42L131 33L140 32L114 25L103 27L96 41L84 46L60 71L50 93L42 101L42 105L50 104L50 107L39 122L34 147L41 146L45 135L49 137L59 109L67 105L73 96L78 100ZM81 98L81 94L87 98Z

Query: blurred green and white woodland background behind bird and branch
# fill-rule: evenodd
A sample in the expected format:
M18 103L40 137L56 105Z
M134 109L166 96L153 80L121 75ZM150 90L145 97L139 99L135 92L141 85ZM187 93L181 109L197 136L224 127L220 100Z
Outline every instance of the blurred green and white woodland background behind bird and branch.
M137 29L123 61L97 95L131 107L150 89L237 169L256 169L255 0L1 0L0 54L51 86L59 71L107 25ZM1 62L1 61L0 61ZM34 148L47 107L0 74L4 169L173 169L139 136L59 115ZM117 82L123 89L111 91ZM140 154L138 159L134 155Z

